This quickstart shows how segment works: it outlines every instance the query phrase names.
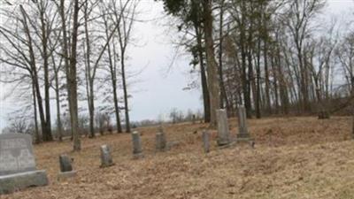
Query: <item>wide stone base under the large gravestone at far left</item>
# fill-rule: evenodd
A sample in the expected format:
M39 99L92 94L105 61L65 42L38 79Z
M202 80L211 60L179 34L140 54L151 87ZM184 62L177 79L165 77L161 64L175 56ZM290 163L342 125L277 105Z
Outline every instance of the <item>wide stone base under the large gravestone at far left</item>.
M0 195L29 188L48 185L45 171L19 172L16 174L0 176Z

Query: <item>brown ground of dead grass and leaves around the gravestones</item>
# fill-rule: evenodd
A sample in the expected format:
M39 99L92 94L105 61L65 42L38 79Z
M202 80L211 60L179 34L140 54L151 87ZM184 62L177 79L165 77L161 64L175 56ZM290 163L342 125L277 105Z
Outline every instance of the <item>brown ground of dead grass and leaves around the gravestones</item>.
M142 133L145 157L132 159L130 134L83 139L82 150L72 143L35 146L37 166L48 172L50 185L28 188L0 198L73 199L228 199L228 198L354 198L354 141L350 118L250 119L255 149L239 144L218 149L212 132L212 151L202 148L204 124L164 126L171 150L155 152L157 127ZM231 119L231 134L237 122ZM116 165L100 168L102 144L112 150ZM58 156L74 158L77 177L58 181Z

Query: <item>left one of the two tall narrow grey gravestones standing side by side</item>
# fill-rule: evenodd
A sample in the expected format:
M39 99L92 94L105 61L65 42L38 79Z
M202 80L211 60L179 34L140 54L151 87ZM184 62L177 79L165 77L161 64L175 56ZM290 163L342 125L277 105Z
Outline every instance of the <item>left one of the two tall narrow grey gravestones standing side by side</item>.
M230 143L230 133L228 130L227 111L220 109L216 111L218 119L218 145L226 146Z

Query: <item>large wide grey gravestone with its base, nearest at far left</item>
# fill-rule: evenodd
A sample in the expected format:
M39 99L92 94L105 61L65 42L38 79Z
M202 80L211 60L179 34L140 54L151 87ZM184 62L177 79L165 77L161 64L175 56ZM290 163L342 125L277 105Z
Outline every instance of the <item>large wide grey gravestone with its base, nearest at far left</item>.
M48 185L47 173L35 167L28 134L0 134L0 195Z

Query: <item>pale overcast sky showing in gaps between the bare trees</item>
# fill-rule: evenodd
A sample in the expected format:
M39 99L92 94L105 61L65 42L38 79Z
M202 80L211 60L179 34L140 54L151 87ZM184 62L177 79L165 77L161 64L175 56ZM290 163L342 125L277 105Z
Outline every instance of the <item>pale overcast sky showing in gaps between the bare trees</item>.
M353 5L353 0L328 0L324 13L327 16L335 14L343 19L354 19ZM143 71L137 77L137 83L129 90L133 95L129 101L131 120L158 119L159 115L173 108L181 111L201 110L201 92L183 90L193 78L197 78L189 74L189 57L177 57L172 61L175 49L161 20L164 18L162 5L153 0L142 0L141 11L141 19L160 20L135 25L136 41L142 45L129 50L129 70ZM170 68L172 62L174 65ZM4 99L6 93L4 84L0 83L0 129L6 126L8 114L18 108L15 99Z

